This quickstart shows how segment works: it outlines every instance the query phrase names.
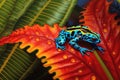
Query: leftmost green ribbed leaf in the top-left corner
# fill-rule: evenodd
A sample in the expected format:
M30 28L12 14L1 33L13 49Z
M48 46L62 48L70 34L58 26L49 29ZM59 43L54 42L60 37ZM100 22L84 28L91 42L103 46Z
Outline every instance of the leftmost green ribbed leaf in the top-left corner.
M7 24L15 2L16 0L0 1L0 33L5 29L5 25Z

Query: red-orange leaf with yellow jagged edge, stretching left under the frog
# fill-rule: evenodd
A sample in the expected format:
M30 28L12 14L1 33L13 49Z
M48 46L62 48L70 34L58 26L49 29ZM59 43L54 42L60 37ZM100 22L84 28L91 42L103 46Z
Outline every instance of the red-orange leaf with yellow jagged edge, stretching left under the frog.
M32 27L25 26L14 31L8 37L0 39L0 45L6 43L21 42L20 48L30 46L29 53L38 50L36 56L46 62L44 67L51 66L49 73L56 72L53 79L60 80L107 80L107 77L96 60L96 57L90 53L90 56L82 56L80 52L74 50L69 44L66 44L66 50L57 50L54 39L58 36L60 28L57 24L53 27L49 25Z

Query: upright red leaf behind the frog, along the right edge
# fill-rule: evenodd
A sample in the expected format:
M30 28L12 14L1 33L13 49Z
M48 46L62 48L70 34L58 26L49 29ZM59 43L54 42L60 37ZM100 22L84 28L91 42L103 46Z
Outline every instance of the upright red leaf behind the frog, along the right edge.
M101 46L105 49L100 55L114 80L120 80L120 26L115 20L116 14L108 11L111 2L107 0L91 0L83 12L84 25L101 35Z

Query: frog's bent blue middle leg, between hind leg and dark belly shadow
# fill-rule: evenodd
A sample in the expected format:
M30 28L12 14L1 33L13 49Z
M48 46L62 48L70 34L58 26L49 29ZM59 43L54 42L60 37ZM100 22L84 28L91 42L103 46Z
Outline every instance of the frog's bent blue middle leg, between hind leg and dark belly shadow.
M69 44L70 44L73 48L79 50L82 55L86 54L87 51L91 51L91 50L89 50L89 49L87 49L87 48L83 48L83 47L81 47L80 45L78 45L78 43L77 43L78 41L80 41L80 38L79 38L79 37L76 37L76 38L74 38L74 39L71 39L71 40L69 41ZM87 55L89 55L89 54L87 54Z

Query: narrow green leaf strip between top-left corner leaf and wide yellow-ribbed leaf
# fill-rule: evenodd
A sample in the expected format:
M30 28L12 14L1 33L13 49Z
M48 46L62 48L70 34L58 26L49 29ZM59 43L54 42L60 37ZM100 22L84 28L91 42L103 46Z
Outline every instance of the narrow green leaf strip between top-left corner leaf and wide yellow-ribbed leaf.
M1 32L0 37L6 36L12 32L17 20L24 14L24 12L31 5L33 0L17 0L14 4L14 8L12 10L11 15L9 16L6 24L4 26L4 30Z

